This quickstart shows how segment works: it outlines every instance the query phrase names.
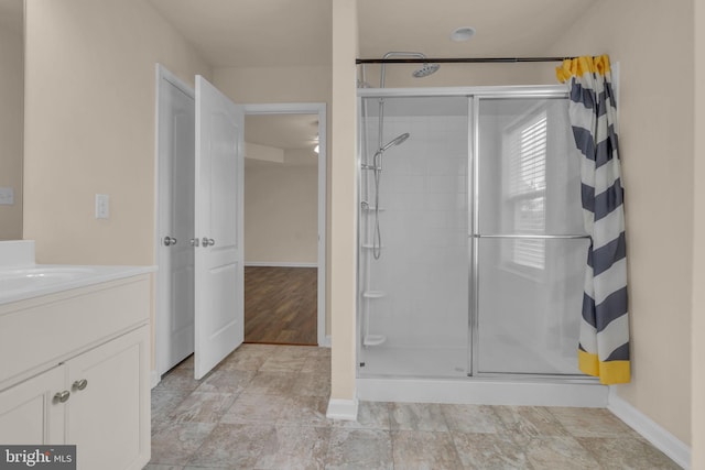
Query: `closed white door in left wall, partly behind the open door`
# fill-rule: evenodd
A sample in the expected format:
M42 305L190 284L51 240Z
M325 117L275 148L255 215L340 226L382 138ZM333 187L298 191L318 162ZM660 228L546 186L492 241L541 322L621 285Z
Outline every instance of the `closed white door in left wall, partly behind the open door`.
M158 345L163 374L194 352L194 94L160 70L160 275Z

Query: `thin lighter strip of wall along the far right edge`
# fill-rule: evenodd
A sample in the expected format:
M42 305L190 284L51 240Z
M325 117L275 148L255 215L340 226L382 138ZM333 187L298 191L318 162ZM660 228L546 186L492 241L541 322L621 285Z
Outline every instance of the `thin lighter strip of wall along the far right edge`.
M696 130L705 129L705 0L695 0L695 122ZM705 142L699 132L694 135L695 167L693 208L693 328L692 374L693 405L691 448L693 469L705 469Z

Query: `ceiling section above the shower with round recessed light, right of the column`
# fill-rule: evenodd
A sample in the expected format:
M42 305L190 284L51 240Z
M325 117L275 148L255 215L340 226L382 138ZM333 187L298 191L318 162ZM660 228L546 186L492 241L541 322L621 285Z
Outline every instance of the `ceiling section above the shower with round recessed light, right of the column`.
M546 48L596 0L359 0L360 55L389 51L429 57L546 55ZM474 26L467 42L451 41Z

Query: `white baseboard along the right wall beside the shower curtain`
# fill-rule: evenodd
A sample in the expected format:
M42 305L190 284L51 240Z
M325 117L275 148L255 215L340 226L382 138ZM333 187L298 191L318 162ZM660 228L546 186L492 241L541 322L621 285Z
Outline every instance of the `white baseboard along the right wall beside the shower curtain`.
M607 409L643 436L657 449L669 456L675 463L684 469L691 468L691 448L617 395L614 386L609 387Z

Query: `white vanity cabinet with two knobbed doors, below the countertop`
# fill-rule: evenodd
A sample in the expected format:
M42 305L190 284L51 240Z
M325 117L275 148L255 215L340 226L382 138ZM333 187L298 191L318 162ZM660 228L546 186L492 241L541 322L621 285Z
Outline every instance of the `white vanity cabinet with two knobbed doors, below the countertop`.
M0 305L0 442L76 445L79 470L150 459L150 277Z

